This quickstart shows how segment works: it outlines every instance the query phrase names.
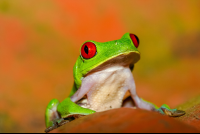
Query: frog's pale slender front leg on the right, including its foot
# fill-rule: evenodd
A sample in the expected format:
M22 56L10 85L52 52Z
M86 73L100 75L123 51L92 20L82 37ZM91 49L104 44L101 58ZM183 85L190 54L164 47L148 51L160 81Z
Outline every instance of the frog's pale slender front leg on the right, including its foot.
M136 107L141 108L141 109L150 110L150 111L157 111L161 114L165 114L168 116L181 116L181 115L185 114L184 111L177 110L177 109L170 109L170 107L166 104L163 104L160 108L158 108L155 104L148 102L142 98L139 98L136 93L135 82L134 82L133 76L130 76L130 78L127 80L127 83L129 85L131 97L134 100Z

